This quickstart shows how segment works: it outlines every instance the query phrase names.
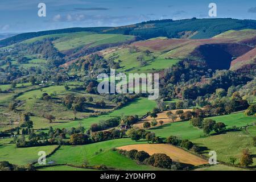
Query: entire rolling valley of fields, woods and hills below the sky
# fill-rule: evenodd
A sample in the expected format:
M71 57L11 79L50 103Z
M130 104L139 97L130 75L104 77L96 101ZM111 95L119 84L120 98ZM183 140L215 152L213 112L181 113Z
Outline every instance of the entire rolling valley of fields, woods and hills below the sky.
M256 169L256 20L152 20L0 44L0 171Z

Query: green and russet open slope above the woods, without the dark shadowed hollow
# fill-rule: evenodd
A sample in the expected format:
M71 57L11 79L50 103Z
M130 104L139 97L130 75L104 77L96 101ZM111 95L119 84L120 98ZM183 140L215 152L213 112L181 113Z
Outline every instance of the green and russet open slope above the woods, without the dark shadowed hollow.
M223 34L214 36L208 40L184 40L184 39L163 39L155 38L146 41L139 41L131 44L138 48L137 52L130 52L129 47L119 47L115 50L106 49L101 51L106 59L121 61L119 72L137 72L148 73L160 71L176 64L182 57L190 56L190 53L196 47L203 44L216 44L227 42L240 42L241 40L253 38L256 35L255 30L228 31ZM146 55L143 51L150 50L151 53ZM143 56L147 63L142 66L137 60L138 56Z

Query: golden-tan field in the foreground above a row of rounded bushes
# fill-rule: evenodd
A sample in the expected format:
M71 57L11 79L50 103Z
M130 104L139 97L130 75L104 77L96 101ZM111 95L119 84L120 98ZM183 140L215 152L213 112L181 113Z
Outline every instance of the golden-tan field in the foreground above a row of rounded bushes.
M118 149L122 149L126 151L135 149L138 151L145 151L149 155L162 153L170 156L170 158L175 162L192 164L194 166L208 164L207 160L199 158L198 156L193 155L181 148L172 146L171 144L132 144L129 146L118 147Z

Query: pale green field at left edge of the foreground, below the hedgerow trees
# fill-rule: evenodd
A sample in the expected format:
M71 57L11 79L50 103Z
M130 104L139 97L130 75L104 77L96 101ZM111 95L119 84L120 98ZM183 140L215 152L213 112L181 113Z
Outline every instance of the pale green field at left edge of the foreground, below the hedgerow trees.
M38 160L38 152L51 153L57 146L16 148L15 144L3 144L0 146L0 161L7 160L11 164L25 165Z

